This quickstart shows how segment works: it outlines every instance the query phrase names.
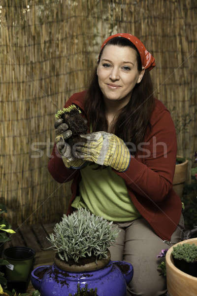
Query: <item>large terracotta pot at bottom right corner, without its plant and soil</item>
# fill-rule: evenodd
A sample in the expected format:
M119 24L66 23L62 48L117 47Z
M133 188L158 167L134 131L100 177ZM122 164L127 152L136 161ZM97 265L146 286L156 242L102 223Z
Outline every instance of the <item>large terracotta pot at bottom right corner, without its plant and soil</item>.
M174 265L172 258L173 247L178 244L195 244L197 245L197 238L191 238L179 242L169 248L165 256L166 264L166 278L167 278L167 291L169 296L196 296L197 295L197 277L189 275Z

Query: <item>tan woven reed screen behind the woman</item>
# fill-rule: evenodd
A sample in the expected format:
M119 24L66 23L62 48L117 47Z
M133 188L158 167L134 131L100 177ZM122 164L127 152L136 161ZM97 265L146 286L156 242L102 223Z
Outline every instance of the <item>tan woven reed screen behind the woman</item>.
M54 222L66 212L70 183L56 183L47 170L54 114L86 88L111 34L134 34L154 55L154 94L172 111L178 153L193 157L195 0L0 0L0 6L0 197L12 223Z

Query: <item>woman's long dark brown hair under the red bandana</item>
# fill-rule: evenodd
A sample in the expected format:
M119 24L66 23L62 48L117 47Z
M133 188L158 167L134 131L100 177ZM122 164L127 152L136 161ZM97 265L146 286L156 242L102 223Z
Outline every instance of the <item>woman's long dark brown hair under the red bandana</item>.
M131 41L123 37L115 37L109 40L105 46L109 44L130 46L133 48L137 53L137 69L138 71L142 71L140 55ZM98 64L102 51L103 49L100 51ZM153 84L149 71L145 70L141 82L137 83L132 90L129 103L123 107L117 120L113 123L112 130L114 130L114 134L124 142L133 143L137 148L137 145L143 142L147 128L151 129L150 117L154 107ZM92 132L108 130L105 105L98 82L97 68L94 71L92 81L87 90L85 112L89 123L92 125Z

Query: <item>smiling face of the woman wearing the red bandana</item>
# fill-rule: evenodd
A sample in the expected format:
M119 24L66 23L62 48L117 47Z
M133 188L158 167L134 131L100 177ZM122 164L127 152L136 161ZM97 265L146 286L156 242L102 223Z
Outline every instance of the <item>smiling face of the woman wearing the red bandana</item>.
M137 70L137 53L129 46L106 45L97 68L99 86L104 99L127 104L132 89L143 77ZM125 105L126 105L125 104Z

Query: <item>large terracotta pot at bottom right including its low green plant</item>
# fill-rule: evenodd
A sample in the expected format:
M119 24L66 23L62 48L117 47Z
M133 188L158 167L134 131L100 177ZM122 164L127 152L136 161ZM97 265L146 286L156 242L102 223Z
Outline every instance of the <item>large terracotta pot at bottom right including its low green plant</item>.
M169 295L197 295L197 238L181 241L169 248L165 263Z

